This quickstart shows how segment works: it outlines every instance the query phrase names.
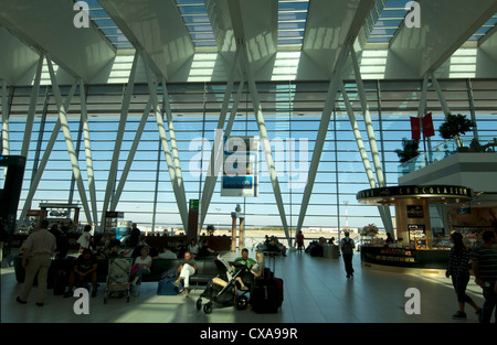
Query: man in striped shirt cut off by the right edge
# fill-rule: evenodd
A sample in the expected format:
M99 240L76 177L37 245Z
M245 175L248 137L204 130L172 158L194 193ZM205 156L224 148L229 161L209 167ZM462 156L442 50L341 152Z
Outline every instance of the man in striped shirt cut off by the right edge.
M479 321L489 323L491 312L497 302L497 249L495 248L495 231L485 231L482 237L484 244L473 251L472 265L475 282L482 287L485 298ZM495 319L495 322L497 322L497 310Z

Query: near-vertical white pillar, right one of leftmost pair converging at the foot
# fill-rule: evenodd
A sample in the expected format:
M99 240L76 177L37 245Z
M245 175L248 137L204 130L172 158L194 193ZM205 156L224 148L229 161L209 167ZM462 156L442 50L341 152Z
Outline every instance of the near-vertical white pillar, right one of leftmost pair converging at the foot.
M85 144L86 173L88 175L89 201L92 204L92 214L94 222L98 222L96 190L95 190L95 172L93 170L92 141L89 139L88 111L86 108L85 84L80 80L80 98L81 98L81 117L83 122L83 140Z

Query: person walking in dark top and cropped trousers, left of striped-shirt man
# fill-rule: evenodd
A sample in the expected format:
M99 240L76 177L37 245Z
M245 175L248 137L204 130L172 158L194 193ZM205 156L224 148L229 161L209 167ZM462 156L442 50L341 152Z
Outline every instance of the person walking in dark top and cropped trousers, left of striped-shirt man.
M466 303L473 306L479 316L482 314L482 309L466 294L467 283L469 282L470 252L464 245L463 235L459 233L456 231L451 235L451 242L454 244L454 247L448 255L445 277L452 278L452 284L459 304L459 310L452 317L456 320L466 319L466 313L464 311Z

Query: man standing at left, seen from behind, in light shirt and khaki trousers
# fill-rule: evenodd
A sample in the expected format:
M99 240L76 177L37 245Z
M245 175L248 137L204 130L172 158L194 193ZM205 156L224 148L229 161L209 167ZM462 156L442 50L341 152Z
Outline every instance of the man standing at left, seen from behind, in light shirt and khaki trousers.
M43 219L41 228L31 234L24 242L24 252L22 255L22 267L25 270L24 287L17 301L25 304L33 288L34 277L38 273L38 299L36 305L42 306L46 297L46 278L56 248L56 239L47 227L49 220Z

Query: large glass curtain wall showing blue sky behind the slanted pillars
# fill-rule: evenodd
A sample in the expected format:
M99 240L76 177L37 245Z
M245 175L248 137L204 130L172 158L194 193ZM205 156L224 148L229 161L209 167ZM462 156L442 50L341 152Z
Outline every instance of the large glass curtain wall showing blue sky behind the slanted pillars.
M476 119L477 134L480 138L495 137L497 132L496 82L482 79L440 80L451 111L464 114L468 118L473 116ZM399 177L399 159L394 150L401 148L402 138L411 139L410 117L417 116L422 80L366 80L364 87L387 184L395 185ZM327 88L328 83L282 82L257 84L275 166L278 172L286 218L293 235L298 222L305 182L313 159ZM214 131L221 112L224 89L225 85L212 83L168 85L187 202L189 200L201 200L204 182L203 171L207 170L210 150L214 144ZM236 85L233 89L234 96ZM372 164L356 84L353 82L346 83L346 89L352 103L362 140ZM64 98L70 86L61 87ZM125 86L123 85L88 86L86 89L98 216L102 212L110 164L113 163L124 90ZM11 98L10 154L20 154L31 88L9 88L9 96ZM162 90L160 88L159 97L161 100ZM117 162L115 188L121 179L123 169L130 153L148 98L147 86L136 85ZM3 101L3 99L1 100ZM421 142L421 152L424 151L424 148L435 148L444 142L437 133L437 128L442 123L444 115L432 85L427 93L426 109L433 114L435 137L424 143ZM231 108L228 111L226 121L230 111ZM147 122L139 138L133 165L116 211L124 212L126 219L139 223L142 230L151 229L152 226L156 230L170 227L182 228L165 153L159 140L157 122L154 114L147 116ZM369 188L370 185L340 93L330 116L331 121L304 227L343 228L348 226L357 228L374 223L382 228L383 224L378 208L361 205L356 201L357 192ZM57 112L51 87L42 86L38 98L24 174L20 201L21 208L24 206L31 181L44 154L56 120ZM78 90L76 90L68 109L68 121L72 139L80 158L80 169L86 187L86 196L89 200ZM232 136L258 136L252 96L246 87L240 99ZM0 172L0 175L3 179L3 171ZM230 213L234 211L236 204L242 206L246 215L247 228L281 226L282 222L262 151L260 152L258 197L221 197L220 180L219 177L204 228L209 224L224 228L230 227ZM56 139L29 208L39 209L41 202L81 203L62 133ZM392 214L394 214L393 209ZM84 213L82 213L81 220L82 223L87 220Z

